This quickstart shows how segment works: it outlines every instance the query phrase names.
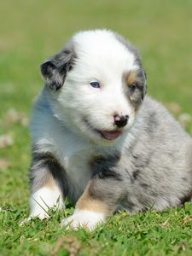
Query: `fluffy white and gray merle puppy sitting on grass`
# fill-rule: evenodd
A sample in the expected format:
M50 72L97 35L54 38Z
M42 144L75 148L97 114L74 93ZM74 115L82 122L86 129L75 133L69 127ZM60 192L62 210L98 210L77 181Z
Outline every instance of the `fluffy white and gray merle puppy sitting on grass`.
M49 207L92 230L124 208L163 210L192 195L192 139L146 94L137 50L107 30L79 32L41 65L32 113L30 217Z

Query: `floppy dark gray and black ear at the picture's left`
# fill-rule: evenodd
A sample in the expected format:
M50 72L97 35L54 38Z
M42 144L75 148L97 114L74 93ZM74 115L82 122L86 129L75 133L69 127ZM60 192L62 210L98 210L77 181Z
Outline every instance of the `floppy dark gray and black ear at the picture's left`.
M73 67L73 59L73 50L65 48L41 64L40 70L49 89L59 90L62 87L67 72Z

